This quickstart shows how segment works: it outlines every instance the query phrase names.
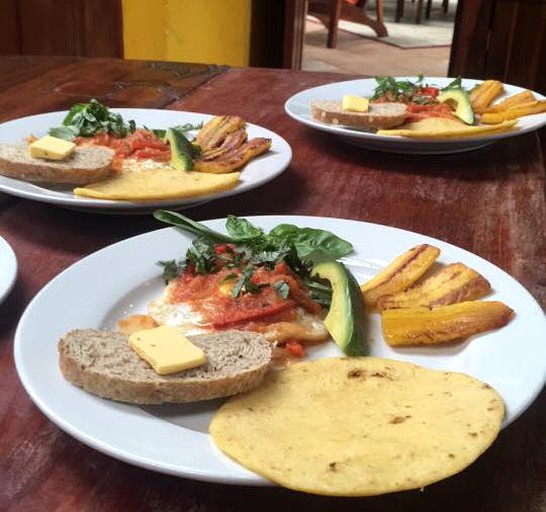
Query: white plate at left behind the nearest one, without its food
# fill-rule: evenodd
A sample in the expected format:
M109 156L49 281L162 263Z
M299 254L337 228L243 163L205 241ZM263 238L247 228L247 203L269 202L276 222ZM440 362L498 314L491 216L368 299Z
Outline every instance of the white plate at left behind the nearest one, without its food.
M134 119L138 127L168 128L186 123L207 122L213 116L196 112L176 110L153 110L138 108L113 108L112 112L120 113L126 121ZM67 112L51 112L36 116L23 117L0 124L0 143L20 143L30 134L45 135L49 128L60 126ZM254 124L247 124L248 137L267 137L271 139L271 150L252 160L241 173L239 184L231 189L205 196L187 199L169 199L166 201L130 202L111 201L78 197L72 193L72 187L37 185L0 175L0 191L14 196L42 201L58 206L89 210L102 213L148 213L156 208L180 210L206 203L221 197L240 194L259 187L281 174L292 159L289 144L276 133ZM195 132L190 132L194 135Z

